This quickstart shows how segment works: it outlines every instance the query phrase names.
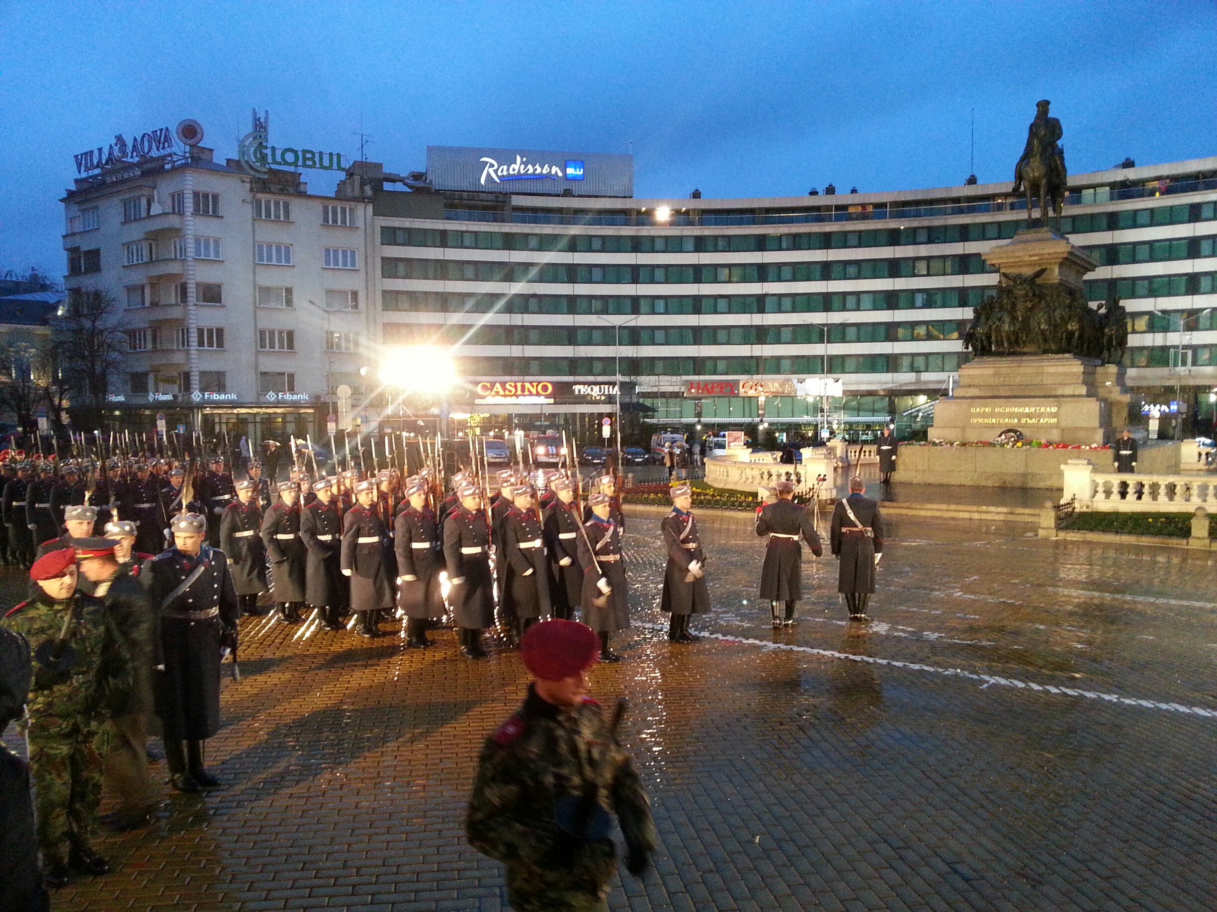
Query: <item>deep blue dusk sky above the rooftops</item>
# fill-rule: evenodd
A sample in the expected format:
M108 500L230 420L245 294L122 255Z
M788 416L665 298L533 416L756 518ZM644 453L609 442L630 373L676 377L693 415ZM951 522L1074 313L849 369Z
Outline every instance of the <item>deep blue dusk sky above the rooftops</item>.
M1212 2L0 2L0 272L65 271L75 152L181 118L422 169L427 145L634 152L638 197L1010 180L1217 154ZM310 188L332 190L316 171Z

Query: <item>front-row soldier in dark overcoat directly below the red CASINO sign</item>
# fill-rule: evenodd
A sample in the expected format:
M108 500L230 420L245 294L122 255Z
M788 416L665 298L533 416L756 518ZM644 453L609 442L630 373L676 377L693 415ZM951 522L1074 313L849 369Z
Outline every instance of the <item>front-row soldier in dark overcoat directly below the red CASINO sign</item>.
M531 484L517 484L512 508L503 517L503 602L499 608L516 641L551 610L549 561L534 496Z

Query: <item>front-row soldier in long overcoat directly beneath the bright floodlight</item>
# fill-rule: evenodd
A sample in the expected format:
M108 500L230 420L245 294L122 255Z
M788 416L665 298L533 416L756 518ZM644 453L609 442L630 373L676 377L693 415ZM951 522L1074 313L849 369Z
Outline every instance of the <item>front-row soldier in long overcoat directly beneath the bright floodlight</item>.
M406 617L405 646L421 649L434 643L427 638L428 621L444 617L439 591L443 542L436 514L427 506L427 483L411 478L405 484L402 511L393 520L393 548L397 552L397 607Z

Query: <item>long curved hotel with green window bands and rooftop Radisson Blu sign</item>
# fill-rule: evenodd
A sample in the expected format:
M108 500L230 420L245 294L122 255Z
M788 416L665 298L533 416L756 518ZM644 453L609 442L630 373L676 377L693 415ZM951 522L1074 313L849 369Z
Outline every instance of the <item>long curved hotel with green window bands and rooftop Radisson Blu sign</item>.
M409 191L375 168L386 343L459 343L461 372L487 382L619 371L645 421L673 429L804 433L825 418L804 394L839 381L839 432L915 435L994 292L982 254L1026 218L1009 182L636 199L628 156L431 147ZM1212 427L1215 204L1217 158L1070 176L1061 227L1100 264L1087 297L1129 313L1134 424L1159 410Z

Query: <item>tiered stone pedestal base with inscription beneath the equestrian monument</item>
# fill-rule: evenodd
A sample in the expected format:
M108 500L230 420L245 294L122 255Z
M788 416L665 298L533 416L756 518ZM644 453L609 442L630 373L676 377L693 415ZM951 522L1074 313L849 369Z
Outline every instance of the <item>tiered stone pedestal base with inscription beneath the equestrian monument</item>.
M992 440L1019 430L1054 444L1111 443L1128 417L1125 368L1078 355L991 355L959 368L933 410L931 440Z

